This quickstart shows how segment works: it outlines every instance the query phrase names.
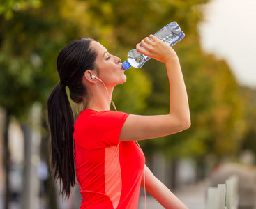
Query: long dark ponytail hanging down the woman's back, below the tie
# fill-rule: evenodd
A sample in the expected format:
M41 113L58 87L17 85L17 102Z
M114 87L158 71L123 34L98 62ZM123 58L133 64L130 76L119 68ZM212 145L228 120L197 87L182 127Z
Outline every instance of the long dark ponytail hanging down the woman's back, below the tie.
M47 102L48 125L50 127L50 165L56 182L59 178L61 196L69 198L75 185L73 111L66 89L58 84Z

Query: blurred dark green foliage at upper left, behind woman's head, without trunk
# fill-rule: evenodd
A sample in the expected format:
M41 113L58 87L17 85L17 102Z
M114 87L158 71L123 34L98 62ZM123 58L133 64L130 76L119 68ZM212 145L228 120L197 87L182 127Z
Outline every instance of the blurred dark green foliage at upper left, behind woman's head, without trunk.
M53 72L62 34L52 14L43 15L45 9L27 8L10 20L0 19L0 105L15 116L23 116L35 101L45 103L57 79Z

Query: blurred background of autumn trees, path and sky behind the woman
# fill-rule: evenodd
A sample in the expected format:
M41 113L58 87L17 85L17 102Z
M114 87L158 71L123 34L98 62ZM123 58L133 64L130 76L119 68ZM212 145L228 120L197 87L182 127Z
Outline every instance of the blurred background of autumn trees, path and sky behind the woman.
M172 21L186 34L174 49L192 125L141 141L146 164L188 208L204 208L206 187L233 173L239 176L239 208L255 208L255 8L254 0L1 0L0 209L80 206L77 187L62 201L48 166L45 104L59 82L59 51L89 36L125 61L137 42ZM126 75L113 95L119 111L168 113L163 63L151 59ZM150 196L146 203L163 208Z

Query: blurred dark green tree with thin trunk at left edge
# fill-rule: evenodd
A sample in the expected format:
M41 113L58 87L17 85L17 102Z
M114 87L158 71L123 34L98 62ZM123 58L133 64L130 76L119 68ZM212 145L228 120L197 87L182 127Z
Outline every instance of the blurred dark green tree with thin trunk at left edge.
M48 24L44 18L37 17L39 13L36 15L35 8L29 6L29 1L26 1L27 6L22 7L21 10L12 10L12 3L20 5L22 2L25 3L25 1L3 3L1 6L6 6L6 13L0 17L0 105L6 109L5 148L3 149L6 171L5 208L8 208L10 200L8 184L10 154L7 132L10 116L24 119L33 102L45 101L45 93L52 88L50 86L54 79L49 73L52 63L49 63L51 66L49 68L48 63L43 61L43 57L53 61L54 56L51 56L51 52L56 51L52 49L57 45L56 42L49 42L49 35L48 38L45 37L50 33L48 26L54 25L54 22ZM8 15L9 13L13 15L12 18Z

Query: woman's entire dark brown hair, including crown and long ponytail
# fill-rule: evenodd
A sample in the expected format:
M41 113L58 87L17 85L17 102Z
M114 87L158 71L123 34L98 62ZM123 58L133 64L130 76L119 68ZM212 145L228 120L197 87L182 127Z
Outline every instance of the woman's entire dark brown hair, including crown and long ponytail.
M50 129L50 167L54 182L59 179L61 196L67 199L71 188L75 185L74 164L74 115L68 100L66 86L70 98L81 103L86 88L82 77L86 70L96 66L96 52L91 49L90 38L80 38L64 47L57 58L57 70L60 82L55 86L47 102L47 119Z

